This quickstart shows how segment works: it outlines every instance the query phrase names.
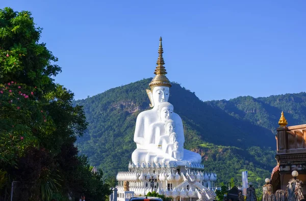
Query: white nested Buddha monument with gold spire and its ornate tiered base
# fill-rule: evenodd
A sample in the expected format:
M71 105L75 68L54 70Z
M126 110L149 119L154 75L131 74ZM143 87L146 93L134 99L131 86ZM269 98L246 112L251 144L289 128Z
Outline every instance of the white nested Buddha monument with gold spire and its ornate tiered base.
M152 191L174 200L213 200L217 175L205 172L198 153L184 149L182 119L168 102L171 83L166 77L162 38L158 53L155 77L146 90L152 109L138 114L134 134L137 148L126 164L127 171L117 174L118 185L111 201Z

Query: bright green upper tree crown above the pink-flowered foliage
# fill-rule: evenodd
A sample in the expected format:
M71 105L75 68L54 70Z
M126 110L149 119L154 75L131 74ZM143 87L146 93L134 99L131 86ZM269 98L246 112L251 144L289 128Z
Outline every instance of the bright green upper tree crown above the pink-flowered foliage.
M0 10L0 83L15 80L46 93L54 90L52 76L61 68L46 44L39 43L42 28L35 26L31 15L11 8Z

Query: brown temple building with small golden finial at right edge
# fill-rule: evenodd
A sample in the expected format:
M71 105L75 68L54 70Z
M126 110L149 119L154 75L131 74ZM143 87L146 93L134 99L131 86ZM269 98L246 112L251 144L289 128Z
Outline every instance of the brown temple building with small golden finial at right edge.
M272 171L270 182L273 193L277 190L286 191L292 177L306 182L306 124L287 127L284 112L278 124L275 136L277 165ZM305 188L302 187L302 192L306 192Z

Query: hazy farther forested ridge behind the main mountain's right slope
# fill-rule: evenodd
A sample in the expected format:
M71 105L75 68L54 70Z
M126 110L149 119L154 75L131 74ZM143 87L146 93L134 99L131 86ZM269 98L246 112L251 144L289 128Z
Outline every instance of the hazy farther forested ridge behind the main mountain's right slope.
M251 96L238 97L229 101L209 101L213 107L219 107L231 116L251 122L271 130L275 133L278 127L279 111L286 112L286 119L290 125L306 122L306 95L285 94L278 96L253 98Z

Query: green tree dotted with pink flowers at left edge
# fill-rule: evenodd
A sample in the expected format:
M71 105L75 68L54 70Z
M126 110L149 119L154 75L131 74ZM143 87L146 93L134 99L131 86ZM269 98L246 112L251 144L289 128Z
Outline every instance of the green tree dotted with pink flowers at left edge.
M35 96L38 91L14 81L0 84L0 162L15 165L25 149L39 147L40 135L55 130Z

